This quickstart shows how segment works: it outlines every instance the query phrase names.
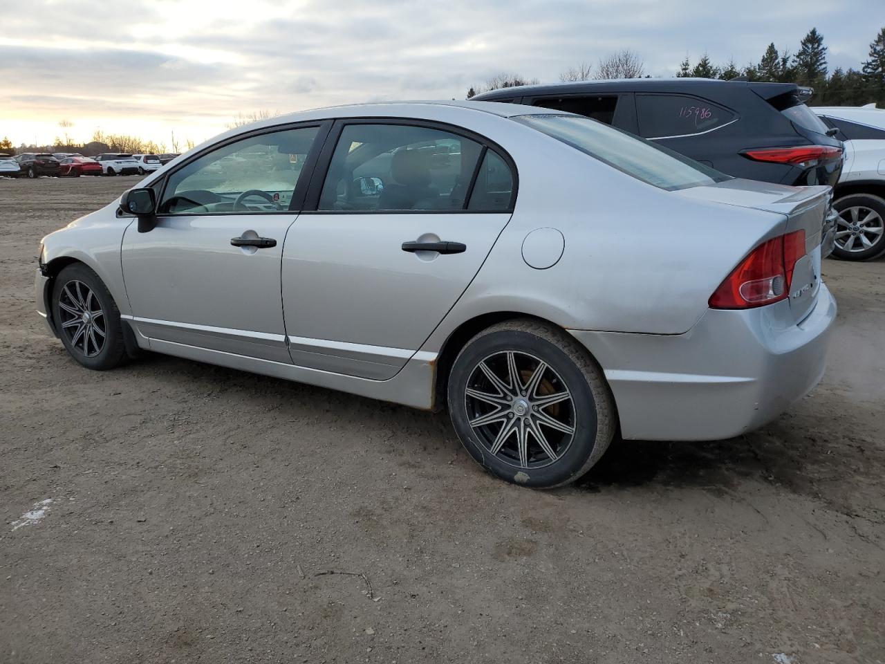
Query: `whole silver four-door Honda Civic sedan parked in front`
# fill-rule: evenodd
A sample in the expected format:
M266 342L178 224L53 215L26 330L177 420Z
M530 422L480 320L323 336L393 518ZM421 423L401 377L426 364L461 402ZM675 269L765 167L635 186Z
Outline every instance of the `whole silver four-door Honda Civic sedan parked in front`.
M447 407L483 467L551 487L616 435L738 436L812 390L830 197L563 112L320 109L47 235L37 310L91 369L157 351Z

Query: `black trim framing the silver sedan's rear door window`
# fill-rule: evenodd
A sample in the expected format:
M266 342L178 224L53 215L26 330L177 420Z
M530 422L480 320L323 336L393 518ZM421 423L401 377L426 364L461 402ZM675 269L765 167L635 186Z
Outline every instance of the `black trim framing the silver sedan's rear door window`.
M326 184L326 178L329 172L329 166L332 164L332 157L335 154L335 148L341 139L344 127L349 125L401 125L404 127L427 127L428 129L437 129L438 131L448 132L462 138L473 141L481 145L479 160L473 169L473 178L470 186L465 193L465 205L459 210L319 210L319 197L322 193L323 186ZM513 178L513 189L510 194L509 205L503 210L467 210L466 205L473 196L473 187L476 184L477 175L481 167L482 158L485 157L486 151L495 151L499 157L504 159L504 163L510 168ZM477 134L466 127L451 125L448 122L440 122L438 120L422 120L419 118L396 118L396 117L361 117L361 118L338 118L332 126L331 131L326 137L322 152L313 172L311 181L307 188L307 197L304 199L302 206L302 214L512 214L516 207L516 200L519 194L519 170L516 162L510 156L510 153L500 144L495 143L489 138L481 134Z

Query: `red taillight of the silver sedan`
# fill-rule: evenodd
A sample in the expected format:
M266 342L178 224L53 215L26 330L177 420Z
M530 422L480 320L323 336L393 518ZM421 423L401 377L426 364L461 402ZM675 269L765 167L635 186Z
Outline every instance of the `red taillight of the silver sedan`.
M712 309L750 309L789 295L796 261L805 255L805 231L773 237L732 270L710 296Z

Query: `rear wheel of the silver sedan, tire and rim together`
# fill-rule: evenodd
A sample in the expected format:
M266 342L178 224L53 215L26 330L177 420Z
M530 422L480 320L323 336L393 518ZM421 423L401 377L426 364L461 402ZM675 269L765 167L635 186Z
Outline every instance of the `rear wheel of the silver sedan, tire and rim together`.
M579 479L616 429L612 393L589 352L535 320L508 320L467 342L451 367L447 396L452 425L473 459L528 487Z

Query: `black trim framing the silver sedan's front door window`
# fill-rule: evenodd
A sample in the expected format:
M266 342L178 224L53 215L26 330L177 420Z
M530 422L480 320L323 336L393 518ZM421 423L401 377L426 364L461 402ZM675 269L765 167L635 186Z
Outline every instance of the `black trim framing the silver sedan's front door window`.
M207 154L210 154L219 148L223 148L226 145L230 145L232 143L239 143L240 141L247 138L254 138L255 136L261 136L266 134L276 134L281 131L289 131L291 129L307 129L310 127L317 127L319 131L317 135L313 139L313 144L311 146L311 150L307 153L307 158L304 159L304 167L302 168L302 173L304 171L309 170L305 177L298 177L298 181L296 182L295 188L292 190L292 199L289 201L289 209L287 210L257 210L254 212L248 211L236 211L236 212L158 212L158 219L165 219L166 217L230 217L230 216L251 216L258 214L288 214L292 215L303 212L304 210L304 198L307 195L308 185L310 181L312 181L313 171L317 164L317 158L319 158L319 153L324 147L327 137L329 135L329 131L331 130L333 125L333 120L305 120L302 122L289 122L282 125L274 125L273 127L260 127L258 129L254 129L252 131L243 132L242 134L237 134L230 136L224 141L219 141L218 143L212 143L212 145L206 146L203 150L195 152L187 160L181 162L181 164L175 166L175 168L163 175L158 181L151 182L148 187L154 189L157 192L157 200L161 205L163 202L163 197L165 196L165 189L169 183L169 178L181 171L182 168L189 166L196 159L203 158ZM126 215L133 216L133 215Z

